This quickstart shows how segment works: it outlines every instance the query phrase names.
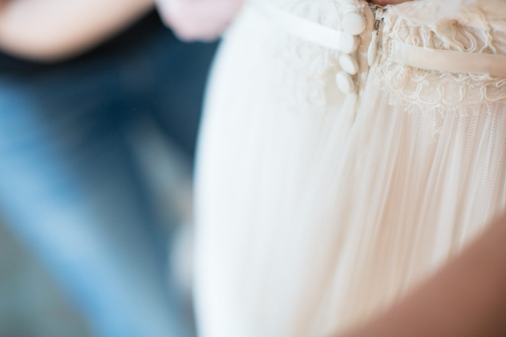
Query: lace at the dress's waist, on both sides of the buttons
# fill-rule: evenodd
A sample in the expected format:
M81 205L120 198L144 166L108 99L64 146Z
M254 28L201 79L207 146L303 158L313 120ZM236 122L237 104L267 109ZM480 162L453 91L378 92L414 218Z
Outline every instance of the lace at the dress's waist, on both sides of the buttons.
M363 1L275 0L277 6L294 15L341 30L344 13L360 10ZM381 57L376 70L383 74L392 104L433 105L455 110L458 104L498 102L506 99L506 78L418 69L389 61L391 40L428 49L506 55L506 6L501 0L415 0L388 6L382 17ZM325 106L335 98L333 75L339 71L338 53L307 41L279 34L277 46L284 83L292 97L304 98L301 105ZM301 66L304 65L304 66ZM338 98L339 99L339 98Z

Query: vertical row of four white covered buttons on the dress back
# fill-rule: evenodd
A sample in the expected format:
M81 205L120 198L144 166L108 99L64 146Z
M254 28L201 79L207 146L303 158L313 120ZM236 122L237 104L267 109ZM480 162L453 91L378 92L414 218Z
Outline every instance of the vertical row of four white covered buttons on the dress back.
M343 17L343 31L339 37L339 49L343 54L339 57L339 65L343 71L335 76L335 82L343 93L356 91L357 87L353 80L358 73L358 61L351 54L358 49L360 35L366 27L364 16L359 12L350 12Z

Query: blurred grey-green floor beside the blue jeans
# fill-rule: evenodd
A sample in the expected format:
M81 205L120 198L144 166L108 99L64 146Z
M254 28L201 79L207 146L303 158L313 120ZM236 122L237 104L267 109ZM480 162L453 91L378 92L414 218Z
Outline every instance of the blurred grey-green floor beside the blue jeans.
M91 335L50 274L0 224L0 336Z

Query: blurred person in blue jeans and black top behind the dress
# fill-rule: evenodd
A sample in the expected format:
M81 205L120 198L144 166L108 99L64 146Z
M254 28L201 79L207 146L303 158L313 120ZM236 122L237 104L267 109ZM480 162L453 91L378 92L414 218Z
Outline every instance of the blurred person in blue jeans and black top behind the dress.
M159 213L170 206L157 209L140 158L164 162L143 147L158 138L192 157L215 45L177 41L153 7L150 0L0 7L2 221L107 337L192 335L165 277L172 229Z

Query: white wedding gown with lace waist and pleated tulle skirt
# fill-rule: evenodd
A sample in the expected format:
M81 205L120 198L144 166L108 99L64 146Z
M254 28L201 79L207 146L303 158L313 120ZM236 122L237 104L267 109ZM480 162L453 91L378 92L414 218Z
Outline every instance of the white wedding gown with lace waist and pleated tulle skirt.
M506 205L506 78L392 62L391 41L506 54L506 3L267 0L341 29L365 13L356 93L340 52L253 5L227 32L197 160L195 304L202 337L330 336L405 294Z

